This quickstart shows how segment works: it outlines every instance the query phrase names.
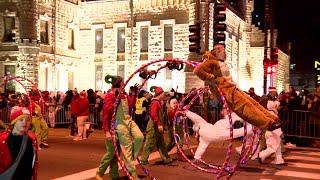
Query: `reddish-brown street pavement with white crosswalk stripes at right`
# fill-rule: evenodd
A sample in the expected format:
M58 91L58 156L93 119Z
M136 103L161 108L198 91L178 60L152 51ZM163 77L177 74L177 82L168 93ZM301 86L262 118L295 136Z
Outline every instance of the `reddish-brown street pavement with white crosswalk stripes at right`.
M50 148L39 151L39 180L79 180L95 179L96 168L105 152L102 131L96 130L87 140L73 141L68 137L68 129L50 129ZM235 142L234 146L239 142ZM226 144L212 144L204 157L211 164L221 165L226 156ZM174 151L174 150L173 150ZM159 154L153 153L146 166L157 179L214 179L213 174L201 172L190 164L179 159L171 152L174 162L162 165ZM238 156L235 151L231 164ZM290 148L284 155L288 166L259 164L251 161L246 166L237 169L232 179L320 179L320 151L308 148ZM269 160L271 161L271 160ZM268 162L269 162L268 161ZM122 173L124 176L124 174ZM141 179L147 179L139 169ZM105 175L105 179L109 179Z

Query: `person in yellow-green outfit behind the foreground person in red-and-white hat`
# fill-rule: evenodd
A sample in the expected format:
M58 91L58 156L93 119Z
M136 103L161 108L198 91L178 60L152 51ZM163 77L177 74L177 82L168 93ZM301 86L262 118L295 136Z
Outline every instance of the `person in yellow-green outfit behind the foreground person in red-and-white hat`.
M49 144L47 142L49 127L42 116L41 107L39 106L39 104L32 102L30 104L30 109L32 114L31 130L37 137L39 150L41 148L47 148L49 147Z

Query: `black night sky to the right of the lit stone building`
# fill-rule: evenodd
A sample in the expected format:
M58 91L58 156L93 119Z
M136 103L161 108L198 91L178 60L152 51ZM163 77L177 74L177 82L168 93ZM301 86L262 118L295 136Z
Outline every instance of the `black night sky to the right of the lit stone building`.
M320 0L274 0L277 45L287 49L291 42L291 63L301 71L313 71L320 59ZM256 14L263 22L264 0L255 0Z

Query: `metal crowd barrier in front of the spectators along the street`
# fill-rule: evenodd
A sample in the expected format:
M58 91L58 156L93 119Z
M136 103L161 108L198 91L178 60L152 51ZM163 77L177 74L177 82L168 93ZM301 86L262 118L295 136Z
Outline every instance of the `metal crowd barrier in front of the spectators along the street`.
M215 123L221 119L219 108L211 109L205 116L204 108L202 106L192 106L191 111L209 119L208 122ZM44 119L49 126L68 125L72 122L70 106L55 106L46 105L44 107ZM9 123L10 108L5 108L0 111L0 118L5 123ZM283 121L282 130L285 136L297 138L311 138L320 139L320 119L312 118L309 111L294 110L294 111L280 111L279 117ZM89 106L88 123L95 127L101 128L102 113L101 108L91 104ZM168 123L165 118L165 123ZM188 128L192 129L192 122L187 123ZM242 123L236 123L234 128L242 127ZM192 130L191 130L192 131Z

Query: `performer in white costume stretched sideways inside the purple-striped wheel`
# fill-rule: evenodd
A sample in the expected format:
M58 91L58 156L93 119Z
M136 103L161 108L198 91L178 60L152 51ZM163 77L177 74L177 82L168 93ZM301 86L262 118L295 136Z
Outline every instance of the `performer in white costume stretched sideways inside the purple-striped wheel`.
M185 111L186 116L194 123L193 130L199 134L199 145L195 152L194 158L201 159L203 153L206 151L211 142L224 141L230 138L230 124L229 119L221 119L214 125L208 123L198 114ZM232 113L232 124L236 121L242 121L235 113ZM248 133L252 133L252 126L247 126ZM233 129L233 138L243 136L243 128Z

